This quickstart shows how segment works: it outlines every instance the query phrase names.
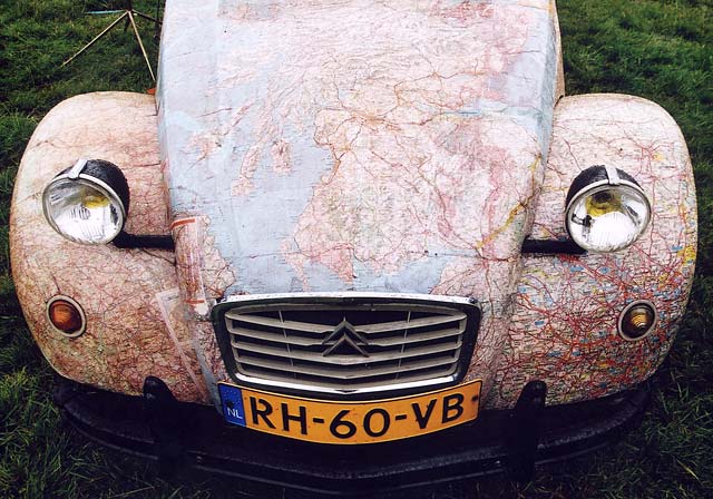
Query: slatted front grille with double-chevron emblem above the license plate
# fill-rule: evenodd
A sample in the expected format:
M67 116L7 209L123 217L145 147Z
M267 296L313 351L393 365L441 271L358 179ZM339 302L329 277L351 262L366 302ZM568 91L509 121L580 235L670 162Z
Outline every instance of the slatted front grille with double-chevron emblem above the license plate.
M467 302L392 296L246 301L223 307L223 343L236 379L271 389L350 393L443 384L463 374L477 312Z

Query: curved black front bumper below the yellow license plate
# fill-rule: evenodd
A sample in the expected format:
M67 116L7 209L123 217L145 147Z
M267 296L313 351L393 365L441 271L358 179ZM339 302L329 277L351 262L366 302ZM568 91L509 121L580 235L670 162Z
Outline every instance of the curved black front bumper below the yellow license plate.
M127 397L62 381L55 390L55 401L81 433L164 466L188 466L267 486L346 496L508 470L517 473L522 460L544 464L576 457L618 440L638 424L648 402L648 391L638 389L525 415L482 411L472 423L429 436L339 447L227 424L214 408L179 403L167 393L167 400L157 401L152 394ZM538 442L531 438L537 433Z

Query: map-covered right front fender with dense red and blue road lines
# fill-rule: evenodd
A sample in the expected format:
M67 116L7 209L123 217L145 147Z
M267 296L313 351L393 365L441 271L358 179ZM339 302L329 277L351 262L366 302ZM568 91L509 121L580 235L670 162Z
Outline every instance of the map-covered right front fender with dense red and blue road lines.
M494 405L512 404L535 379L547 383L550 404L614 393L653 374L671 349L696 254L695 187L684 138L664 109L637 97L561 99L533 238L566 238L567 190L593 165L615 166L641 184L652 203L651 225L617 253L524 255ZM625 341L617 321L638 300L655 305L658 322L644 340Z

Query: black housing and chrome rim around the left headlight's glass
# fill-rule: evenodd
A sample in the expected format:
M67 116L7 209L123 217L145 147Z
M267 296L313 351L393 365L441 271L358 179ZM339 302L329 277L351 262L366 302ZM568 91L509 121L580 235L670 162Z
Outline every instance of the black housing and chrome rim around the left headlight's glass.
M117 228L110 233L109 237L104 237L99 241L86 241L68 234L57 224L57 221L51 215L49 198L55 188L67 183L75 183L78 186L84 185L94 188L105 195L110 203L114 202L118 207L120 222L117 224ZM124 173L118 166L104 159L79 159L72 167L55 176L42 192L42 212L47 222L59 235L79 244L104 245L114 241L124 231L128 216L128 206L129 188Z

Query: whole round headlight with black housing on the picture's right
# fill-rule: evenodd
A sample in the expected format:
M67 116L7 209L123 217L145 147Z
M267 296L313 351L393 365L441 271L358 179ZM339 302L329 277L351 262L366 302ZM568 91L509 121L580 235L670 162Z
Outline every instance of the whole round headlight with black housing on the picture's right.
M580 247L616 252L633 244L651 221L651 204L636 180L609 166L593 166L572 183L567 232Z

